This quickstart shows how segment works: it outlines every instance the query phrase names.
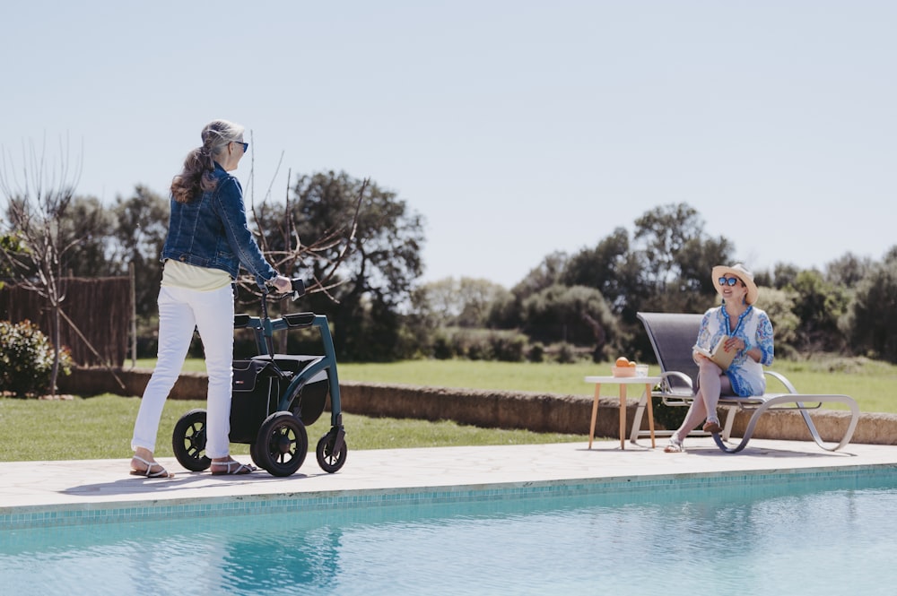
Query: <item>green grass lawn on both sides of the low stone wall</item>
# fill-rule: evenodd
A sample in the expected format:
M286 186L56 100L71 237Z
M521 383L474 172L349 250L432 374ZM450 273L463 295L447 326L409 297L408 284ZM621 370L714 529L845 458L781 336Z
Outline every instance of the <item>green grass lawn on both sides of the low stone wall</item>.
M152 360L139 367L152 368ZM778 362L802 393L847 393L864 412L897 413L897 367L865 359L816 358ZM185 370L204 371L202 360L189 360ZM584 376L605 375L610 364L532 364L466 360L414 360L392 364L344 364L341 380L442 387L501 389L538 393L590 395ZM604 388L603 388L604 389ZM615 387L607 386L614 395ZM775 391L774 387L770 387ZM0 398L0 461L125 458L140 401L103 395L71 401ZM169 401L159 428L156 453L172 455L171 433L187 410L204 401ZM350 450L448 445L522 445L585 440L582 435L539 434L410 419L374 419L344 413ZM327 412L309 427L309 449L330 428ZM245 455L248 445L233 445Z

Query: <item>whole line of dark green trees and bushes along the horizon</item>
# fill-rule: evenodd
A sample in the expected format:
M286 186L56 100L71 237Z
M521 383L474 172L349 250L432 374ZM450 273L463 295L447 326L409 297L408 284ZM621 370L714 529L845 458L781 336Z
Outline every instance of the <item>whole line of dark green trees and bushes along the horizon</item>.
M0 251L8 272L23 263L10 255L31 250L13 208L21 212L33 197L6 198ZM422 216L377 184L345 172L299 175L283 202L254 204L249 197L247 210L281 272L329 276L327 288L300 307L329 317L337 355L345 360L575 358L583 352L596 360L644 358L650 347L636 313L703 312L717 301L710 269L737 260L733 243L707 234L699 212L671 203L645 212L632 231L621 226L595 246L546 255L510 289L469 278L421 283ZM168 198L145 186L110 205L72 194L64 209L48 214L54 225L46 233L65 247L55 257L59 271L125 275L134 263L144 337L154 332L168 214ZM348 245L328 241L350 227L351 237L341 237L351 238ZM291 243L318 249L297 256ZM778 263L754 275L762 287L758 307L771 316L779 355L835 352L897 362L897 246L881 261L846 252L823 271ZM250 289L239 295L247 312L256 300ZM142 345L152 351L152 341Z

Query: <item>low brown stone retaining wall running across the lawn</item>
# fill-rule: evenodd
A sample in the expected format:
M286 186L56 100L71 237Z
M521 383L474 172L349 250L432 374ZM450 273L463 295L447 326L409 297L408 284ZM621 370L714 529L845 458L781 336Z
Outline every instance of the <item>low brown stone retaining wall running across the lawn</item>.
M79 368L60 379L62 393L98 395L141 395L152 371L116 371L118 379L101 368ZM182 373L170 399L205 399L208 380L205 373ZM484 428L526 428L536 432L571 433L588 436L592 398L588 395L558 395L446 389L415 385L376 384L344 381L340 384L343 411L363 416L386 416L426 420L455 420ZM627 436L631 430L637 400L627 402ZM615 398L601 398L595 429L596 436L617 436L618 404ZM849 412L817 410L811 416L820 436L838 441L847 428ZM642 427L647 428L647 416ZM736 415L732 436L742 436L749 412ZM782 440L812 440L803 419L796 411L774 411L762 416L753 436ZM854 443L897 445L897 416L861 414Z

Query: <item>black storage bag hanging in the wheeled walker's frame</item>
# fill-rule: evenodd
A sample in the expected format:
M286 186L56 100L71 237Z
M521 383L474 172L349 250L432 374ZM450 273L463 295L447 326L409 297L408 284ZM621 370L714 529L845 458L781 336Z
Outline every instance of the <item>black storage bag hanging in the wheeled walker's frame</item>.
M258 428L277 409L281 376L270 360L234 360L231 443L255 443Z

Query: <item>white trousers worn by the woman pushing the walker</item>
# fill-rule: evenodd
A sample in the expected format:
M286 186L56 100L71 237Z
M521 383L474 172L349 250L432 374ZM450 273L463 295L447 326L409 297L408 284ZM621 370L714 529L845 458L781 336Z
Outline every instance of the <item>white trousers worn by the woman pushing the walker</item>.
M199 330L209 376L206 400L205 454L227 457L231 452L231 366L233 362L233 289L210 292L163 287L159 291L159 352L146 385L134 425L131 448L155 451L162 407L187 358L193 330Z

